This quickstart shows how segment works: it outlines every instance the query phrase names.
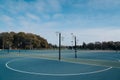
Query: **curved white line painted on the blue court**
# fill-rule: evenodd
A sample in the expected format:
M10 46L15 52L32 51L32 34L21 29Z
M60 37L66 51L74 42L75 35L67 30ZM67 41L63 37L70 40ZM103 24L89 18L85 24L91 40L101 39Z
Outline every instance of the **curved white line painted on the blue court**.
M18 70L15 68L10 67L8 64L17 61L17 60L21 60L21 59L13 59L8 61L5 66L13 71L19 72L19 73L26 73L26 74L32 74L32 75L47 75L47 76L75 76L75 75L86 75L86 74L93 74L93 73L100 73L100 72L104 72L107 71L109 69L111 69L112 67L108 67L106 69L102 69L102 70L96 70L96 71L91 71L91 72L83 72L83 73L74 73L74 74L49 74L49 73L38 73L38 72L29 72L29 71L23 71L23 70Z

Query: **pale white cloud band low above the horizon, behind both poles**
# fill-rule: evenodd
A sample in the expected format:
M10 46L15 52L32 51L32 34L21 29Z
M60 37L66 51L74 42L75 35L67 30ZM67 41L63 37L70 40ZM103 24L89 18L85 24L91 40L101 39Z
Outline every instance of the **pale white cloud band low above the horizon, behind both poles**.
M62 45L72 45L73 40L71 33L77 36L77 44L82 44L83 42L95 42L95 41L119 41L120 30L117 28L87 28L87 29L69 29L60 31L64 40ZM56 36L56 30L49 29L39 30L41 36L46 38L49 43L58 45L58 36Z

